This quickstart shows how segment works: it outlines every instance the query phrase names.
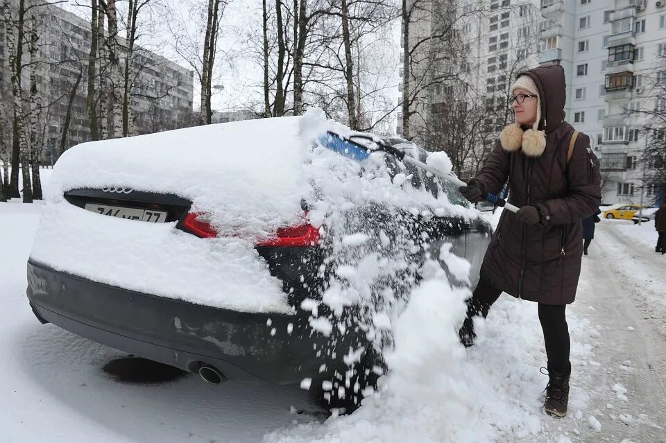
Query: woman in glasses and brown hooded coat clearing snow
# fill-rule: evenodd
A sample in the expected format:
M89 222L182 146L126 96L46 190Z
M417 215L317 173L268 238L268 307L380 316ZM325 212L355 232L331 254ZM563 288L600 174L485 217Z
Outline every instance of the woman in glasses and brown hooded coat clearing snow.
M538 303L548 357L545 410L564 417L569 399L570 338L565 317L581 272L581 220L601 202L599 163L590 139L564 121L566 84L560 66L524 71L511 88L515 123L499 135L485 166L460 189L478 202L509 180L509 202L490 240L479 284L468 300L461 341L475 338L472 317L488 315L502 292Z

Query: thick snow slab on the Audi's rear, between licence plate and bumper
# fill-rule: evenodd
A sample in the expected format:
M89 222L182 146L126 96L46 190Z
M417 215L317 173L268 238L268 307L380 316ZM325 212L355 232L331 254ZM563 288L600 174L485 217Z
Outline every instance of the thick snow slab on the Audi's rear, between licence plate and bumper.
M68 202L44 206L31 261L110 286L241 312L291 313L253 243L203 239L175 223L101 216Z

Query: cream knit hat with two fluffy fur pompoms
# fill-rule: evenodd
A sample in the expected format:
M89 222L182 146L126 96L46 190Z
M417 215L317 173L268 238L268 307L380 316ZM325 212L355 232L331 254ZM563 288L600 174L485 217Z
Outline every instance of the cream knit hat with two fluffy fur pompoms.
M531 129L523 131L518 123L511 123L499 134L502 148L509 152L522 148L527 157L540 157L546 149L546 133L538 130L541 120L541 97L534 81L529 76L520 76L511 86L511 94L516 89L526 89L530 94L536 94L536 121Z

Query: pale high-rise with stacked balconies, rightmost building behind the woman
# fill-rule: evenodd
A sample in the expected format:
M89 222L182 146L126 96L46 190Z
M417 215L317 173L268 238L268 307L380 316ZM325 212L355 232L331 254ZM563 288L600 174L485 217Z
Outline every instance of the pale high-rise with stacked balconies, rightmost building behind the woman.
M601 159L605 203L654 204L663 190L643 180L639 161L654 109L660 57L666 55L666 8L658 0L543 0L553 31L541 35L542 64L567 75L567 121L590 135ZM649 171L648 171L649 172ZM649 175L649 174L648 174Z

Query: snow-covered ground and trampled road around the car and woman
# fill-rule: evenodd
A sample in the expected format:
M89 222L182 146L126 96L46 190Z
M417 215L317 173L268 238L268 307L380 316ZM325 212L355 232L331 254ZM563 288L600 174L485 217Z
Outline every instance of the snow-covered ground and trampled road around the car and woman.
M192 374L123 383L105 367L125 354L39 324L25 265L40 209L0 203L1 441L666 442L666 256L628 238L617 220L597 225L567 310L565 419L541 412L547 377L536 304L502 297L465 350L455 331L438 326L454 313L433 295L454 295L432 282L415 292L398 327L391 390L325 419L298 387L207 385Z

